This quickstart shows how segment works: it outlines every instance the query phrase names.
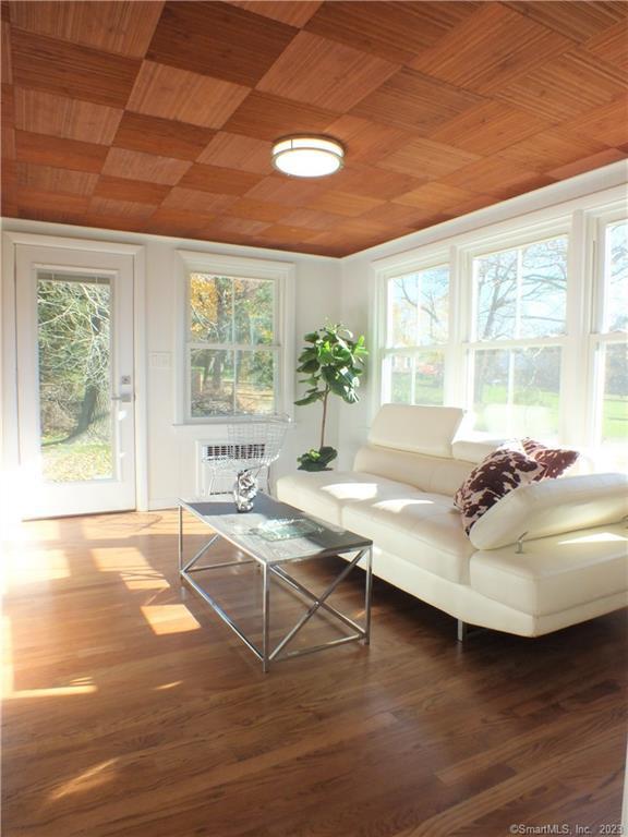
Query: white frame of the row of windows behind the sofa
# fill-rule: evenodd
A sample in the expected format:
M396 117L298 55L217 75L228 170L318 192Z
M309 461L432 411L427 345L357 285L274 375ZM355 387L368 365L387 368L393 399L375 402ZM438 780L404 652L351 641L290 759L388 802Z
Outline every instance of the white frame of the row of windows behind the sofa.
M371 263L375 294L372 300L375 325L374 341L377 345L376 363L373 364L371 409L373 415L382 405L382 356L386 349L386 280L413 269L444 264L449 254L450 269L450 356L445 369L445 403L466 410L473 404L473 381L470 349L474 344L490 348L488 341L474 343L471 259L475 255L499 248L510 248L533 241L567 234L567 332L556 338L532 340L539 345L563 348L560 367L559 442L579 448L601 448L601 410L603 387L602 353L599 347L624 341L621 333L601 333L601 294L604 292L603 230L607 223L626 218L628 206L625 185L591 192L576 198L557 202L553 206L522 211L517 217L495 221L478 229L444 235L423 246ZM508 341L495 341L506 348ZM517 341L519 344L519 341ZM491 347L493 348L493 347ZM466 422L467 433L470 432ZM472 436L486 437L478 432ZM606 442L607 445L607 442Z

